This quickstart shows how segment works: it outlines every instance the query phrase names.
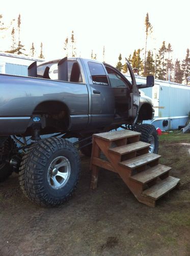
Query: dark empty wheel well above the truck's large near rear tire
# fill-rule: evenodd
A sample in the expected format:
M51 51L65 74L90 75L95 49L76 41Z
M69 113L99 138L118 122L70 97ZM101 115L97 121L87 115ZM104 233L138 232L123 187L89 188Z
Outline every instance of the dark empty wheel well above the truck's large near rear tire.
M48 100L39 103L33 115L46 115L46 126L65 130L69 126L69 110L66 104L60 101Z

